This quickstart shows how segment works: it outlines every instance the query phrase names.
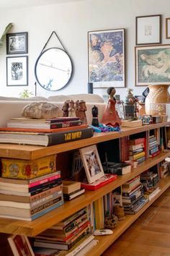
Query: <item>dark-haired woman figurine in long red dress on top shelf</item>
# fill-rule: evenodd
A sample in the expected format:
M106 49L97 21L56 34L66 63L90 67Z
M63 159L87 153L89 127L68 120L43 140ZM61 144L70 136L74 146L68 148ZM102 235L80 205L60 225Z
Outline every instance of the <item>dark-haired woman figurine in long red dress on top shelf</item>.
M116 93L116 90L114 87L110 87L107 89L107 93L109 95L109 99L107 101L107 106L104 110L102 123L110 125L112 127L119 127L121 124L121 119L120 116L118 116L117 111L115 109L116 99L114 95Z

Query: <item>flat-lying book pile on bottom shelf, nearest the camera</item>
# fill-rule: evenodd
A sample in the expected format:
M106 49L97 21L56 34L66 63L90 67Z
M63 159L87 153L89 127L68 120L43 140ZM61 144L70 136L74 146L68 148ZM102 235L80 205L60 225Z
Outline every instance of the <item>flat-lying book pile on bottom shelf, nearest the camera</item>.
M59 255L76 255L92 240L94 236L91 235L89 209L86 207L35 236L33 244L34 247L61 249Z

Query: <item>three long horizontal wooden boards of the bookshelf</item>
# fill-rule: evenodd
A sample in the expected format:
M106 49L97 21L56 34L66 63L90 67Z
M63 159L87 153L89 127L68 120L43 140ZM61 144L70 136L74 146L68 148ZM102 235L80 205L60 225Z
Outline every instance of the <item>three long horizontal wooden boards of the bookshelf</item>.
M4 158L18 158L25 160L32 160L36 158L41 158L45 155L52 155L58 153L64 153L69 150L75 150L78 148L83 148L89 145L98 144L100 142L105 142L109 140L114 140L120 137L125 137L128 135L134 135L140 132L147 132L151 129L158 129L160 127L169 126L170 122L151 124L143 127L123 127L121 132L107 132L107 133L95 133L93 137L78 140L74 142L68 142L60 145L54 145L51 147L40 147L32 145L14 145L14 144L0 144L0 157ZM170 151L166 153L160 153L154 158L148 158L145 162L140 163L138 168L133 168L130 174L125 174L118 176L117 180L111 182L104 187L97 189L97 191L86 191L84 195L76 197L70 202L65 202L60 208L50 211L50 213L45 214L35 221L19 221L9 218L0 218L0 232L6 234L25 234L27 236L36 236L45 229L50 228L55 223L63 220L64 218L71 216L71 214L89 205L91 202L98 200L100 197L111 192L113 189L120 187L122 184L127 182L129 179L133 179L138 174L146 171L148 168L155 166L157 163L164 160L164 158L170 156ZM153 203L168 187L170 186L170 177L161 179L159 187L161 187L161 192L156 195L151 201L149 201L144 207L135 215L127 216L124 221L119 222L119 225L114 229L114 234L110 236L99 236L99 244L97 247L93 248L93 255L101 255L105 249L115 242L115 240L126 230L128 227ZM91 255L91 252L88 254Z

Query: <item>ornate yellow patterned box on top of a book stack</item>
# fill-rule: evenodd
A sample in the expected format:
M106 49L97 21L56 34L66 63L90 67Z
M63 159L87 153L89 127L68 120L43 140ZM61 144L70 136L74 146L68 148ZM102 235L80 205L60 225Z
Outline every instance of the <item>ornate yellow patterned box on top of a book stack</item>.
M56 155L35 160L1 158L1 176L12 179L34 179L56 171Z

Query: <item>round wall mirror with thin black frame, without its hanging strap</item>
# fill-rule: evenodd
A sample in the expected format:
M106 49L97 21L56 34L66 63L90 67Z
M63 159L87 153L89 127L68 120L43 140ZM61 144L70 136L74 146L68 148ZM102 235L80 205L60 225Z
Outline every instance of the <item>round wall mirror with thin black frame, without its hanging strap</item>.
M70 56L61 48L42 51L35 63L35 77L45 90L61 90L73 74Z

